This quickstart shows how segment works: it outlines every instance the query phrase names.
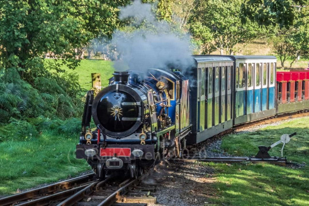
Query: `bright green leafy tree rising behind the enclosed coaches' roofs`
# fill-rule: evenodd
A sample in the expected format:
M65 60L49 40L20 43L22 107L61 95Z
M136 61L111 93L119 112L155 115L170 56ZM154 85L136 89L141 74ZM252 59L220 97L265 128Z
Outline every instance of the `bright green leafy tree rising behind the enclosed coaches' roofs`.
M241 23L240 8L242 0L209 0L197 5L196 15L191 22L201 22L208 27L214 40L214 47L223 54L232 55L236 44L250 43L266 34L257 23Z

